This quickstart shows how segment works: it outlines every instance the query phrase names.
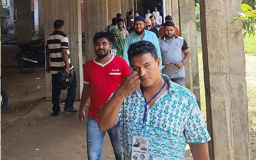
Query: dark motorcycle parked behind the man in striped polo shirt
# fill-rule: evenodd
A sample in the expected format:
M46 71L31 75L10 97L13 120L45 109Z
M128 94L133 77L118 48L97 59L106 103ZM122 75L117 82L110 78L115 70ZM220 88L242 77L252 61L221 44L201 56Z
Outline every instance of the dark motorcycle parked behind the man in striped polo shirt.
M45 65L44 46L19 45L18 52L13 61L15 60L18 62L19 71L22 73L32 73L36 67Z

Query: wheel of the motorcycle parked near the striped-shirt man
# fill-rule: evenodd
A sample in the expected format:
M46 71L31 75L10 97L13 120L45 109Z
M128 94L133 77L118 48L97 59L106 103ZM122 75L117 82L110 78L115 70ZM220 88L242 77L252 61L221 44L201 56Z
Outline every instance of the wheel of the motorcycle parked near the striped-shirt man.
M23 57L30 58L29 56L22 54L18 59L18 69L22 73L31 73L36 69L36 64L33 62L23 60Z

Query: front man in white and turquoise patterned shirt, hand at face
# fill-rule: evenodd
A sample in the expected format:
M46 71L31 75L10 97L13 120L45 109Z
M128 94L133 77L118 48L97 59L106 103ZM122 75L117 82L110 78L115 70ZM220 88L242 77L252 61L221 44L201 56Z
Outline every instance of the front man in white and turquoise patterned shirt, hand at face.
M128 49L134 72L128 75L99 111L99 129L120 122L122 160L138 155L140 140L146 160L186 160L189 143L194 160L210 160L211 140L194 94L161 74L156 47L139 41ZM141 157L140 157L141 158Z

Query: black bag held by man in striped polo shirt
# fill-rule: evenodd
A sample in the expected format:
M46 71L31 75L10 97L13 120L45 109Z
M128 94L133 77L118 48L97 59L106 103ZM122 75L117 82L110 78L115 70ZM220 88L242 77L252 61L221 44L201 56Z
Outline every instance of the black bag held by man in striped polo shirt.
M59 83L61 84L62 89L69 89L70 88L70 83L73 81L73 76L74 76L74 69L71 69L69 71L68 76L66 76L65 71L59 71L58 72Z

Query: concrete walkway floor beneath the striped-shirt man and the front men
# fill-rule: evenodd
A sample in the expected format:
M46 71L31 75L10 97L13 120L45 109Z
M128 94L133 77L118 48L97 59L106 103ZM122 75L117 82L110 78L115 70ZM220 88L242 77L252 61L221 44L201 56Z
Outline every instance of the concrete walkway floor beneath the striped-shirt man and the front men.
M49 102L41 105L43 103ZM78 109L79 104L76 102L74 107ZM35 124L18 134L15 141L3 149L2 160L87 159L86 123L78 120L78 114L63 113L63 108L59 117L51 113L48 107ZM186 155L187 160L193 160L189 148ZM108 134L104 138L101 159L114 160Z

